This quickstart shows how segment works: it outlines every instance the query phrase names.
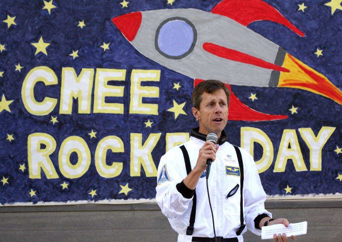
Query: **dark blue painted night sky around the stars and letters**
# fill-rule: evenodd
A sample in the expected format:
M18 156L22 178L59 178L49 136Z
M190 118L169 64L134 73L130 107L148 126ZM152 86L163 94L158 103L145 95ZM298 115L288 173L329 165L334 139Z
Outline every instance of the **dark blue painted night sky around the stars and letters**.
M305 64L324 74L339 89L342 89L342 11L336 10L332 15L331 8L324 5L328 1L304 1L308 6L304 12L297 11L295 0L265 0L277 8L306 36L300 38L284 26L268 21L252 23L249 28L269 40L282 46L289 54L300 59ZM128 7L122 7L121 0L54 0L56 8L42 9L43 0L2 0L0 1L0 44L5 44L5 50L0 53L0 97L5 94L10 104L11 113L0 113L0 179L8 178L8 184L0 183L0 203L14 202L67 202L67 201L101 201L127 199L154 199L156 177L146 177L142 169L140 177L129 174L129 142L130 133L142 133L145 140L150 133L162 133L162 137L152 152L156 166L165 153L165 135L167 132L187 132L196 125L191 114L190 95L193 89L193 79L144 57L119 33L111 19L124 13L151 9L166 8L198 8L204 11L211 9L219 0L175 0L168 4L167 0L131 0ZM7 28L3 22L7 15L16 16L16 26ZM86 26L77 27L78 21L84 20ZM48 55L35 55L36 48L31 44L38 42L43 36L45 42L51 43L47 48ZM111 42L110 50L104 51L100 46L103 42ZM323 49L323 56L314 54L316 48ZM79 57L73 59L69 54L79 50ZM19 73L14 65L20 63L24 68ZM21 100L21 85L26 74L34 67L48 66L58 78L58 84L44 86L38 84L35 88L37 99L40 93L58 99L55 110L47 116L29 114ZM120 84L124 89L124 115L112 114L78 114L77 102L74 102L72 115L60 115L59 94L61 69L72 67L79 73L82 68L113 68L127 70L126 81ZM129 83L132 69L161 70L159 83L160 98L148 100L159 104L159 116L131 115L129 108ZM172 89L173 82L180 82L181 88ZM237 97L249 107L265 113L285 114L288 119L281 121L228 121L226 131L229 142L240 145L240 127L250 126L262 129L273 142L275 158L277 156L281 134L284 129L310 127L318 133L322 126L336 127L335 132L323 148L322 171L296 172L293 164L287 162L284 173L274 173L273 165L260 174L264 189L268 195L285 195L284 188L292 187L291 195L306 194L336 194L342 192L342 182L336 179L342 174L342 154L337 154L337 146L342 146L342 106L336 102L307 91L287 88L261 88L232 86ZM256 93L258 100L252 102L248 97ZM177 103L186 102L184 111L176 120L167 110L172 107L172 99ZM115 100L115 99L114 99ZM298 114L291 115L288 109L294 105L299 107ZM59 122L50 122L51 116ZM144 122L153 121L152 128L146 128ZM189 121L190 120L190 121ZM96 139L90 139L91 129L97 132ZM78 179L66 179L58 170L58 152L51 155L59 179L29 179L28 170L19 170L19 166L27 163L27 136L34 132L46 132L57 141L57 148L68 136L77 135L84 138L95 154L99 140L108 135L116 135L123 140L125 152L120 155L110 155L109 159L123 162L122 173L115 178L101 177L94 161L87 173ZM15 140L8 142L6 134L13 134ZM299 138L304 161L309 167L309 150L304 141ZM256 150L255 158L261 157L261 151ZM111 157L112 156L112 157ZM59 185L69 183L68 189ZM132 191L127 196L120 193L120 185L129 184ZM37 191L37 196L31 197L31 189ZM97 190L97 196L92 197L91 189ZM287 194L288 195L288 194Z

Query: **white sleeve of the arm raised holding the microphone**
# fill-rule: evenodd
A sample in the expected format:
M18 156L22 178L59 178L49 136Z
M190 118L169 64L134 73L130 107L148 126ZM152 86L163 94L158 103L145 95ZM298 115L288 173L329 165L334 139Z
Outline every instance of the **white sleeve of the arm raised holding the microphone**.
M156 187L156 201L163 214L171 220L184 214L192 201L192 198L184 198L176 188L186 176L182 152L179 147L174 147L161 158Z

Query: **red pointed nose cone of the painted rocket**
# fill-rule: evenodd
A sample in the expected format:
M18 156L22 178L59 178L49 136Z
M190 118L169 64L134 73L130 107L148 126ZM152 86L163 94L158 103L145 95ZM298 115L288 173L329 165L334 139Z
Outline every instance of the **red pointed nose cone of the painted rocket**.
M126 39L132 41L140 28L141 19L141 12L133 12L114 17L112 21Z

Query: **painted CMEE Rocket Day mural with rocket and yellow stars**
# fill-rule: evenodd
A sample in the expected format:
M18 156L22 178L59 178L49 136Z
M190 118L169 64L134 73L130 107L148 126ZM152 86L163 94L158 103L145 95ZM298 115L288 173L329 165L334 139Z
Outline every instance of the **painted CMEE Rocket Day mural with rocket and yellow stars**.
M146 202L231 90L228 140L272 198L342 195L342 0L0 2L0 203Z

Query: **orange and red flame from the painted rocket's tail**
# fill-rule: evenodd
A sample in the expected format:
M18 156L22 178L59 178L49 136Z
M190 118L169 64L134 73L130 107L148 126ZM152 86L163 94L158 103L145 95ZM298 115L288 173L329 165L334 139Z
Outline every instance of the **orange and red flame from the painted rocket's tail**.
M283 67L290 70L289 73L281 72L279 87L298 88L328 97L342 105L342 92L324 75L300 60L286 54Z

